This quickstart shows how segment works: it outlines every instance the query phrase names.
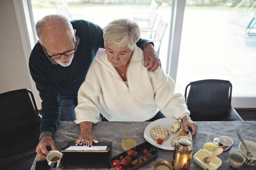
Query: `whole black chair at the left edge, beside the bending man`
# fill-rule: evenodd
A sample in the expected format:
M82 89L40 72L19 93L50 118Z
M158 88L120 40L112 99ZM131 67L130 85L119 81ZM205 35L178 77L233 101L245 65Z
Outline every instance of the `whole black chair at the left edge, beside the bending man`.
M0 120L0 169L32 160L36 155L41 124L32 92L20 89L0 94Z

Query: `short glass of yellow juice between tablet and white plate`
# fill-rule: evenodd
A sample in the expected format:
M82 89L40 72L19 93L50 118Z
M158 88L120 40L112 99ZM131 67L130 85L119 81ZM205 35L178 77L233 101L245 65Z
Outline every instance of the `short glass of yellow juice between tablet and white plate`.
M136 134L133 131L125 131L122 134L122 148L123 150L129 150L136 146L135 140Z

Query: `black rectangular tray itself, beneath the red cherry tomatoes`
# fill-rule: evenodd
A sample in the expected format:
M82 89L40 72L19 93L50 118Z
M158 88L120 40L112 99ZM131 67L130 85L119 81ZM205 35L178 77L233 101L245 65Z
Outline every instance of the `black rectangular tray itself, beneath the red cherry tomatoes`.
M137 158L132 158L132 161L133 161L133 160L136 160L136 159L138 159L138 158L140 158L140 157L143 157L143 156L144 156L144 158L145 158L145 154L143 153L143 150L144 150L144 149L147 149L147 150L148 150L148 153L151 153L151 154L152 154L151 157L147 158L147 160L144 160L142 163L139 163L139 164L136 165L136 166L132 166L131 164L129 164L129 165L127 165L127 169L129 169L129 170L135 170L135 169L138 169L138 168L140 168L140 167L142 167L142 166L148 164L149 162L151 162L151 161L157 159L158 154L159 154L159 151L157 150L157 148L156 148L155 146L149 144L149 143L146 141L145 143L142 143L142 144L140 144L140 145L135 146L134 148L131 148L131 150L137 151L137 153L138 153ZM114 160L120 160L121 158L125 158L126 155L127 155L127 151L124 151L123 153L117 155L116 157L111 158L111 159L110 159L111 165L112 165L112 162L113 162ZM112 165L112 167L115 168L113 165ZM122 169L126 169L126 168L123 167Z

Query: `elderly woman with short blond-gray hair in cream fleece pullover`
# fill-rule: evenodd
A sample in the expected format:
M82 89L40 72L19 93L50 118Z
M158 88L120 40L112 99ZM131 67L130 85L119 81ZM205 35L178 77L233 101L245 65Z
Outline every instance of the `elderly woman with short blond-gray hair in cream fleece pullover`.
M75 123L80 124L76 144L92 146L97 142L92 124L103 121L153 121L172 117L181 119L188 133L197 131L190 120L182 94L174 93L174 81L159 67L148 72L143 66L143 51L136 47L138 25L129 19L110 22L104 29L106 52L90 66L78 92ZM162 115L162 112L163 115Z

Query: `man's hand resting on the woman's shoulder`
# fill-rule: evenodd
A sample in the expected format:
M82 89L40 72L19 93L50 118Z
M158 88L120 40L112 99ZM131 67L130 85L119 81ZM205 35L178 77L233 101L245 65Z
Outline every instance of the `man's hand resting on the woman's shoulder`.
M147 47L143 50L143 56L144 56L144 66L149 67L148 68L149 71L155 71L159 66L161 67L161 62L151 43L149 43Z

